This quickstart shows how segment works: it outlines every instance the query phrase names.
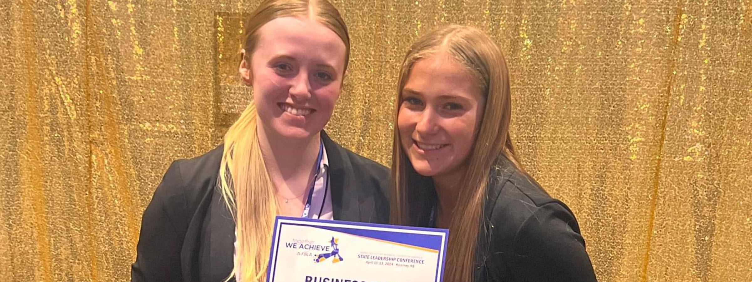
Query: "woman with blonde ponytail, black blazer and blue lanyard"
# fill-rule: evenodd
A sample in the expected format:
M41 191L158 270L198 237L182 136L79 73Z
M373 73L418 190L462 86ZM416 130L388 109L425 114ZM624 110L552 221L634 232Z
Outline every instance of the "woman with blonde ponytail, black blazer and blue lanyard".
M263 281L274 217L386 223L389 171L323 127L350 38L326 0L267 0L245 22L253 102L223 146L170 165L144 211L132 281Z

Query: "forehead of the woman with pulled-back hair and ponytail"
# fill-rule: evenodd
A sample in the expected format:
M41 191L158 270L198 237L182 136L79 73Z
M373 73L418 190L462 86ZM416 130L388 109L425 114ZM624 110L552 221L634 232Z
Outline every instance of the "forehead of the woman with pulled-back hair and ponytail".
M258 32L254 53L344 61L347 51L335 32L315 20L280 17L265 23Z

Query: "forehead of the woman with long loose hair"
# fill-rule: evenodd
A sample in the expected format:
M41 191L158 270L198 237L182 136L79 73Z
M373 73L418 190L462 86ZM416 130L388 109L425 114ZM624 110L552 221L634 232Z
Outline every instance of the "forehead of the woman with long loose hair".
M415 62L405 83L405 90L419 92L424 96L482 96L478 79L465 65L444 52Z

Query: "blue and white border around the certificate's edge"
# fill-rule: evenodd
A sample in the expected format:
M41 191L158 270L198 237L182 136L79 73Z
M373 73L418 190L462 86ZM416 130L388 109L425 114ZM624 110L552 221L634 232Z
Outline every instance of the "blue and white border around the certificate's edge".
M280 220L284 222L280 223ZM413 226L393 226L393 225L378 224L378 223L357 223L353 221L342 221L342 220L316 220L316 219L311 219L311 218L277 216L274 219L274 232L272 232L272 236L271 236L271 250L269 250L269 260L268 260L269 263L268 263L268 267L266 268L266 280L267 281L274 281L274 274L276 274L277 272L277 271L271 271L271 269L276 268L277 266L277 252L279 251L279 245L277 245L277 243L279 241L278 239L280 238L282 234L281 227L283 225L295 225L295 226L311 226L311 227L316 227L316 228L322 228L321 224L317 224L317 223L324 223L323 225L342 224L343 225L342 228L345 228L345 229L359 229L358 227L371 227L371 228L377 227L377 228L384 228L384 229L392 229L392 232L399 232L400 230L410 230L410 231L430 232L430 233L433 233L430 235L441 236L442 244L441 244L441 248L438 250L439 253L441 253L441 256L438 259L438 262L436 262L437 273L436 273L435 282L441 282L442 280L444 280L444 262L446 261L446 257L447 257L447 241L449 238L449 230L447 229L435 229L435 228L413 227ZM373 230L373 229L368 229L368 228L360 228L360 229Z

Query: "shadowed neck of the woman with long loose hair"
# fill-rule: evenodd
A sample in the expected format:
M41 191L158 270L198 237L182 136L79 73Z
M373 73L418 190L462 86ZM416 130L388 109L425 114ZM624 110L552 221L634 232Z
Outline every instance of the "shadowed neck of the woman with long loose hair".
M464 188L461 184L464 175L465 170L457 170L432 177L438 198L438 211L436 213L436 225L438 227L449 227L454 208L459 200L459 194Z

